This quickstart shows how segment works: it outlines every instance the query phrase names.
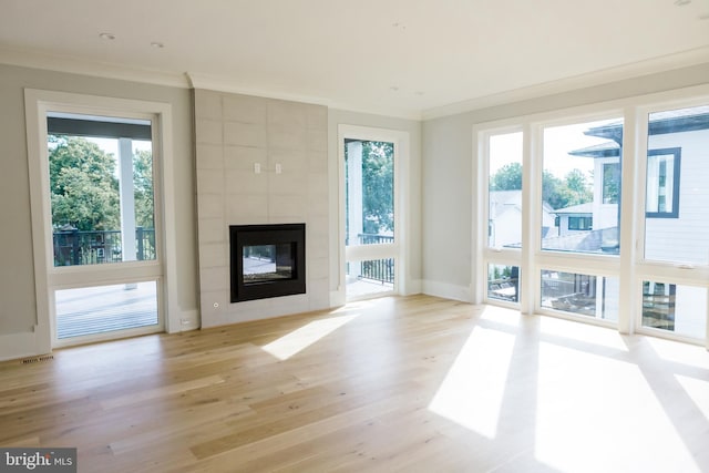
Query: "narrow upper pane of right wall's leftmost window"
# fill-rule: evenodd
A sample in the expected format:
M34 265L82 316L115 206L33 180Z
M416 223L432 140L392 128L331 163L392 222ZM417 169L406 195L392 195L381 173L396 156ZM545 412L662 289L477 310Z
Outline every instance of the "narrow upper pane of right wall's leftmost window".
M522 246L522 132L490 137L487 245Z

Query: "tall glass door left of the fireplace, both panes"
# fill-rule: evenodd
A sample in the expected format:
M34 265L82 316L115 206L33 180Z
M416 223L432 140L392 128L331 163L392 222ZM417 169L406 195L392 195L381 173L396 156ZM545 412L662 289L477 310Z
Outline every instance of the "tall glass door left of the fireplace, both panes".
M47 114L53 345L162 330L151 120Z

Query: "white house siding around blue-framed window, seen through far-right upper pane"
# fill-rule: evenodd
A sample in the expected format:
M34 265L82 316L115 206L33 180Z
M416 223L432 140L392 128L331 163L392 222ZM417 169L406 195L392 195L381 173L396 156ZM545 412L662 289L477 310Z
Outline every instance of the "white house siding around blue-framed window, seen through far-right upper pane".
M709 130L650 136L648 150L681 148L678 218L646 218L649 260L709 263ZM645 204L643 204L645 207Z

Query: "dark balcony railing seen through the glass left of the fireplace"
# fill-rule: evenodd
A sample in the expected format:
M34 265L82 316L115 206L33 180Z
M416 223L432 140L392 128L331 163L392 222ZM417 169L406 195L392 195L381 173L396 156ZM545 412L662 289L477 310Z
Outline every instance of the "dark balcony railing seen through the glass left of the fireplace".
M100 265L123 260L121 230L54 232L54 266ZM155 229L135 229L135 259L155 259Z

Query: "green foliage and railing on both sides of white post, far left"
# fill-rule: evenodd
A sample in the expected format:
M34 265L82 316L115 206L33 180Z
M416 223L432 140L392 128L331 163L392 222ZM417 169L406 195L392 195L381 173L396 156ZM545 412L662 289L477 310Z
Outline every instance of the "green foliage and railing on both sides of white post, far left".
M54 266L119 263L121 197L117 160L81 136L49 135L49 178ZM155 259L153 156L134 150L136 259Z

